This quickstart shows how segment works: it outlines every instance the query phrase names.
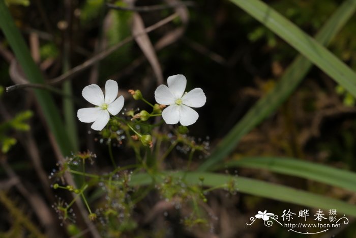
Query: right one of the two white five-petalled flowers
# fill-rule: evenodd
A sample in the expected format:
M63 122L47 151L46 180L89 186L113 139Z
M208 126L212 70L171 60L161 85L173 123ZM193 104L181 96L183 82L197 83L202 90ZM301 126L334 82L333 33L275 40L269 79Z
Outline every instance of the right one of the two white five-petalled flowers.
M155 99L158 103L169 105L162 112L163 120L167 124L191 125L199 115L192 108L200 108L206 102L206 97L201 88L195 88L184 93L187 79L182 74L169 76L168 87L160 85L155 91Z

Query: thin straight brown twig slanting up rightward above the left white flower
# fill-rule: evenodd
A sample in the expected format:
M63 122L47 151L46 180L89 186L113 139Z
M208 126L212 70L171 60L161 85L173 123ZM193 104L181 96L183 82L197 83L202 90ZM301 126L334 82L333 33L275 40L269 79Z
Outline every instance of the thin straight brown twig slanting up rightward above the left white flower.
M115 51L116 49L122 47L123 45L129 43L130 41L134 40L135 37L141 36L143 34L152 32L154 30L156 30L157 28L162 27L162 25L167 24L168 22L172 21L174 18L176 18L178 16L178 14L174 13L162 20L160 20L159 22L151 25L150 27L145 28L145 31L137 33L133 36L129 36L127 38L125 38L123 41L117 43L116 45L102 51L100 54L94 56L93 58L85 61L84 63L72 68L71 70L69 70L68 72L62 74L61 76L58 76L56 78L53 78L52 80L49 81L49 84L57 84L57 83L61 83L62 81L67 80L69 77L72 77L74 74L83 71L84 69L92 66L93 64L95 64L97 61L100 61L102 59L104 59L105 57L107 57L108 55L110 55L113 51Z

